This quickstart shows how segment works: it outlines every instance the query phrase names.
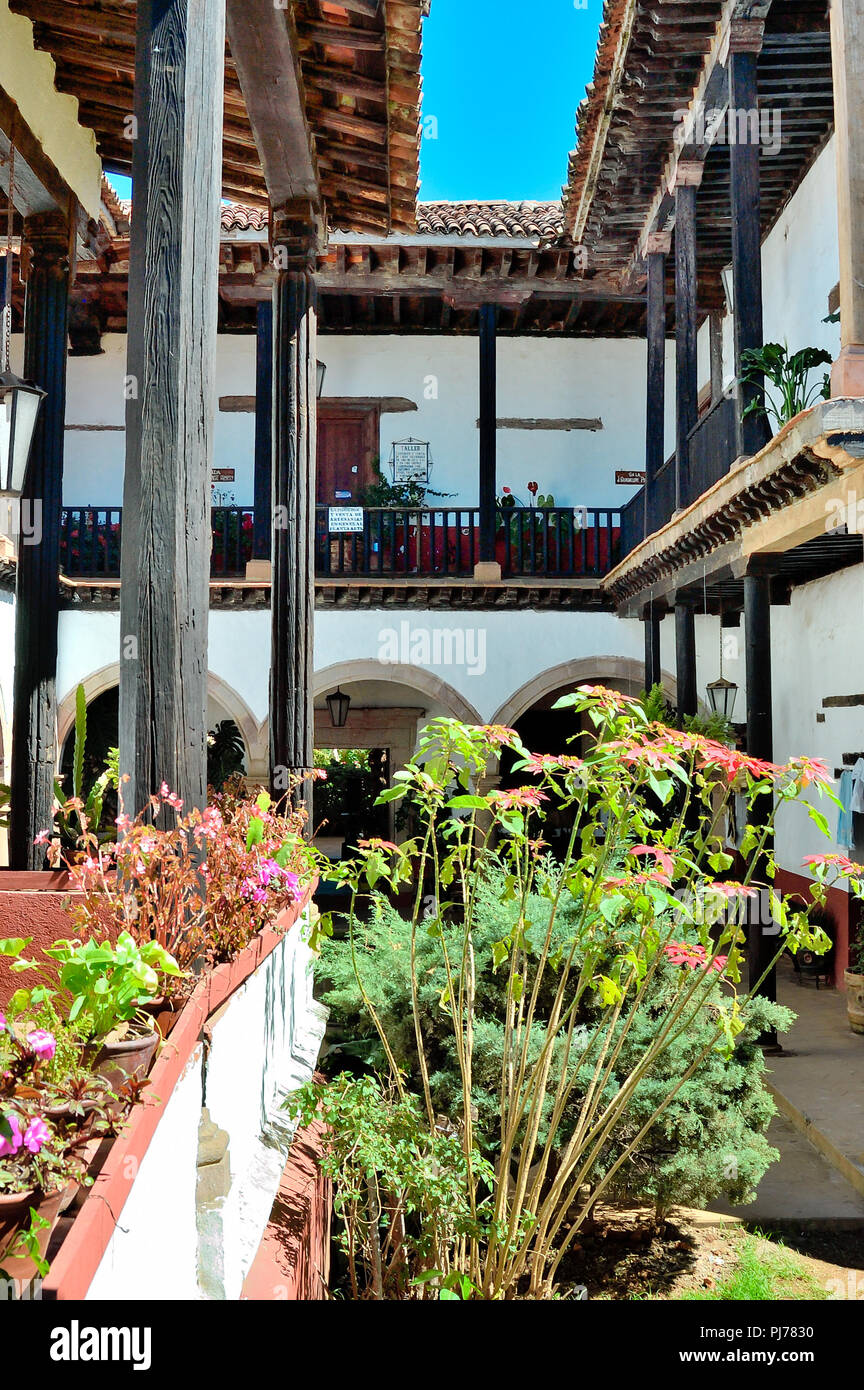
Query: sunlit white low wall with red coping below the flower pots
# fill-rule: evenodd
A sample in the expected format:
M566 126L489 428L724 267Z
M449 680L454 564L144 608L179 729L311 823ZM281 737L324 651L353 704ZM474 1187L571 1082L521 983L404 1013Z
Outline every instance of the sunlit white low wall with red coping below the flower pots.
M300 924L210 1022L165 1102L89 1300L238 1300L279 1187L292 1126L283 1098L307 1081L326 1009L313 998ZM165 1044L171 1047L171 1041ZM228 1134L231 1190L196 1207L201 1105Z

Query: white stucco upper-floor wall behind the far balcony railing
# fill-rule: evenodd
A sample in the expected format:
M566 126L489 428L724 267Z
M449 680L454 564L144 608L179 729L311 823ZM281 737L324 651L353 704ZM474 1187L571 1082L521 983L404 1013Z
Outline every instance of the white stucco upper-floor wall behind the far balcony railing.
M121 506L125 435L126 338L106 334L97 357L68 363L64 499L67 506ZM381 460L394 439L428 439L432 488L453 493L450 505L476 505L478 345L475 338L326 335L318 353L326 364L326 396L401 396L417 411L383 414ZM674 345L668 345L672 379ZM499 431L499 486L525 505L526 484L539 482L567 506L620 507L633 488L615 485L617 468L645 466L646 348L638 339L501 338L499 416L600 418L603 430ZM218 341L219 396L256 389L253 335ZM674 400L668 392L668 449ZM86 425L86 430L81 427ZM93 427L113 428L93 428ZM225 484L239 506L253 499L254 416L219 411L214 467L235 468Z

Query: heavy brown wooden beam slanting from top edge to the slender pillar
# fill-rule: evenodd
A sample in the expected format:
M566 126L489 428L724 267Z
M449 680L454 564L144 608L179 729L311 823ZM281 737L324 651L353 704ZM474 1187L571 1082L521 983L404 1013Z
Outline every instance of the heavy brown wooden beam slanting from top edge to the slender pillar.
M231 51L274 207L294 199L321 213L314 143L297 39L288 10L272 0L226 0Z

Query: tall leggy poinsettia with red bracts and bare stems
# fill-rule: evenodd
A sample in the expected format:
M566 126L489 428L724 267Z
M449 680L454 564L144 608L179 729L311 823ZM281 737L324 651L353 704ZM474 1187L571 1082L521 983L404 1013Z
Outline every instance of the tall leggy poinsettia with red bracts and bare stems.
M554 1297L561 1261L595 1204L626 1180L640 1155L647 1162L646 1140L674 1105L690 1113L685 1088L703 1063L717 1054L720 1065L738 1065L745 1030L758 1020L749 1012L751 995L739 988L746 942L732 908L761 884L778 926L778 956L790 945L817 952L829 945L806 912L770 887L774 810L745 833L743 881L718 883L732 865L725 824L735 788L750 806L760 796L785 806L801 801L824 830L804 798L814 785L831 795L822 764L800 758L775 766L700 734L649 724L636 701L599 687L558 708L572 710L576 728L582 719L593 723L583 758L532 755L513 730L435 720L381 798L414 796L417 835L399 847L371 841L332 872L351 894L354 962L369 913L375 919L386 898L411 890L407 941L392 947L407 956L408 998L396 1020L401 1041L360 963L357 987L365 1030L376 1031L383 1054L381 1084L400 1099L415 1097L429 1138L442 1129L460 1138L463 1209L472 1226L457 1238L439 1223L438 1245L443 1230L446 1248L433 1268L464 1276L483 1298ZM504 748L532 783L478 795L476 781ZM539 852L549 803L572 815L560 863ZM511 909L492 941L482 895L490 866L504 874L501 897ZM814 873L813 901L824 902L826 891L826 874ZM711 917L707 897L728 910ZM426 942L435 983L443 979L433 1004ZM483 1012L495 976L503 1001L496 1052ZM429 1037L431 1008L443 1022ZM675 1059L696 1024L692 1051ZM446 1097L435 1080L445 1029L445 1055L457 1069ZM400 1065L406 1030L414 1036L408 1076ZM674 1074L639 1113L640 1088L664 1066ZM478 1091L495 1104L481 1111ZM658 1205L664 1200L658 1191ZM422 1227L422 1209L417 1220Z

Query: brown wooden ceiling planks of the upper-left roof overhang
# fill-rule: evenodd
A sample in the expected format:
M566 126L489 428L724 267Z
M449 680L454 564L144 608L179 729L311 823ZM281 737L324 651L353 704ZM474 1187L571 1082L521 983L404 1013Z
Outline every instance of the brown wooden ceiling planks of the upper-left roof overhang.
M76 96L108 168L132 164L135 0L10 0ZM328 221L344 231L411 231L419 183L424 0L297 0L306 117ZM226 50L224 193L267 206L240 82Z

